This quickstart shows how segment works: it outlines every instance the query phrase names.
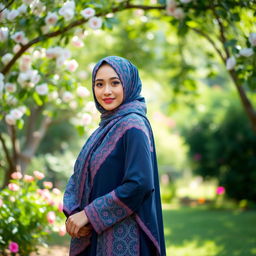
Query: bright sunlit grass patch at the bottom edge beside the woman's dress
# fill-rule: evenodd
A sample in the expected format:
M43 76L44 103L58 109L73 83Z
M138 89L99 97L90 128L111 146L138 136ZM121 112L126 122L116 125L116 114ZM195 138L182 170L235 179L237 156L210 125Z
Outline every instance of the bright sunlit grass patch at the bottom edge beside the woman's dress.
M222 248L215 244L214 241L184 241L180 246L167 247L167 255L170 256L215 256L219 255Z

